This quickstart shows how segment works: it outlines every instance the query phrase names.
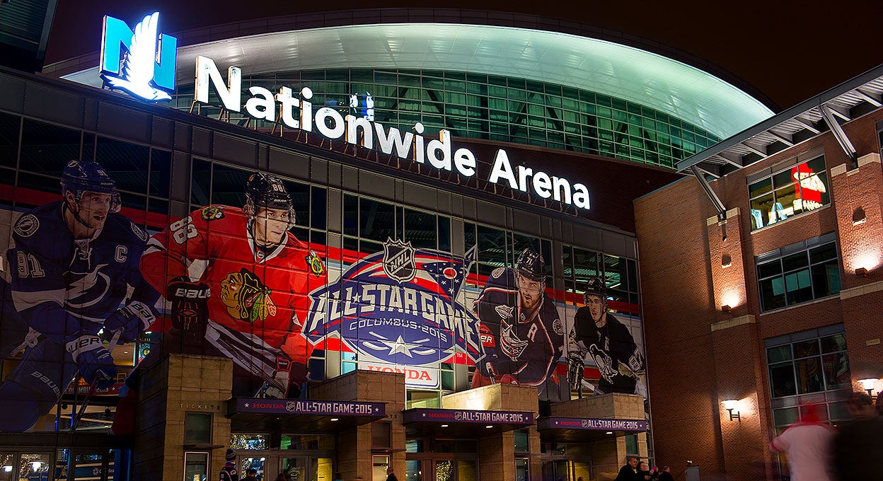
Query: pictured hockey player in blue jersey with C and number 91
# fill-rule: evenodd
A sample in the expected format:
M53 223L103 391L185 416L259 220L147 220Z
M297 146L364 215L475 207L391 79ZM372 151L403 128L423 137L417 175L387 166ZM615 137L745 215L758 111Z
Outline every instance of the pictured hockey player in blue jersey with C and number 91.
M99 333L132 342L155 319L159 298L138 263L147 234L117 214L116 183L95 162L72 161L61 177L64 199L23 214L12 228L14 262L4 325L39 333L0 385L0 431L29 429L58 402L76 373L98 388L117 367ZM7 301L8 302L8 301Z

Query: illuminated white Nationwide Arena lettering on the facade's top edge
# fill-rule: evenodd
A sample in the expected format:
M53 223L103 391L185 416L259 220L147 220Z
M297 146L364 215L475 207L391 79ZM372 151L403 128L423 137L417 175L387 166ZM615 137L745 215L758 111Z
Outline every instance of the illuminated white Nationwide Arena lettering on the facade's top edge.
M395 127L385 128L366 116L343 116L337 109L314 106L311 101L313 91L308 87L295 95L287 86L281 87L278 94L262 86L250 86L248 93L251 97L243 103L242 70L230 66L227 72L225 83L215 61L206 56L197 56L194 101L208 105L209 86L214 86L223 109L241 112L244 108L246 115L257 120L278 122L290 129L319 132L327 139L343 139L348 144L377 148L383 154L395 154L420 164L428 163L434 169L456 172L463 177L477 175L475 154L465 147L452 147L450 133L446 130L439 132L438 139L428 139L422 135L425 129L419 122L414 124L413 132L401 132ZM487 181L506 184L521 192L532 191L533 195L542 199L589 208L589 191L585 184L571 184L566 178L549 176L546 172L520 165L513 169L503 149L498 149L494 155Z

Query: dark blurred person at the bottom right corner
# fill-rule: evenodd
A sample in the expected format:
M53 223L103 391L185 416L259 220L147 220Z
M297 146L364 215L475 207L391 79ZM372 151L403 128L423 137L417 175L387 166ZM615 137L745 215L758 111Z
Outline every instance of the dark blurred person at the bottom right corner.
M883 459L883 417L877 413L871 396L853 393L847 400L852 421L838 426L831 454L834 478L838 481L883 481L883 470L871 463Z

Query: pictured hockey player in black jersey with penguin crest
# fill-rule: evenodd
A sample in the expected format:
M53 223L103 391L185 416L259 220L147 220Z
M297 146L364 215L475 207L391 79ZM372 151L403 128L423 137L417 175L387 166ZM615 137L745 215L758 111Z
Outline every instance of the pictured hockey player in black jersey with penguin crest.
M644 357L629 328L608 312L607 287L600 277L586 283L585 306L577 310L575 329L570 338L572 352L568 381L577 389L582 381L585 359L598 366L601 378L597 393L627 393L646 397L640 374Z

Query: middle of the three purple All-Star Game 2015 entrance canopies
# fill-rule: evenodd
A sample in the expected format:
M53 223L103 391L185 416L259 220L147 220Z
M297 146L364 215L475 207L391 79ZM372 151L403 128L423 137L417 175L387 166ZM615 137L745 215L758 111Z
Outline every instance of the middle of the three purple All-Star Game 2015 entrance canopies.
M530 411L430 410L402 411L402 424L411 437L479 438L533 425Z

